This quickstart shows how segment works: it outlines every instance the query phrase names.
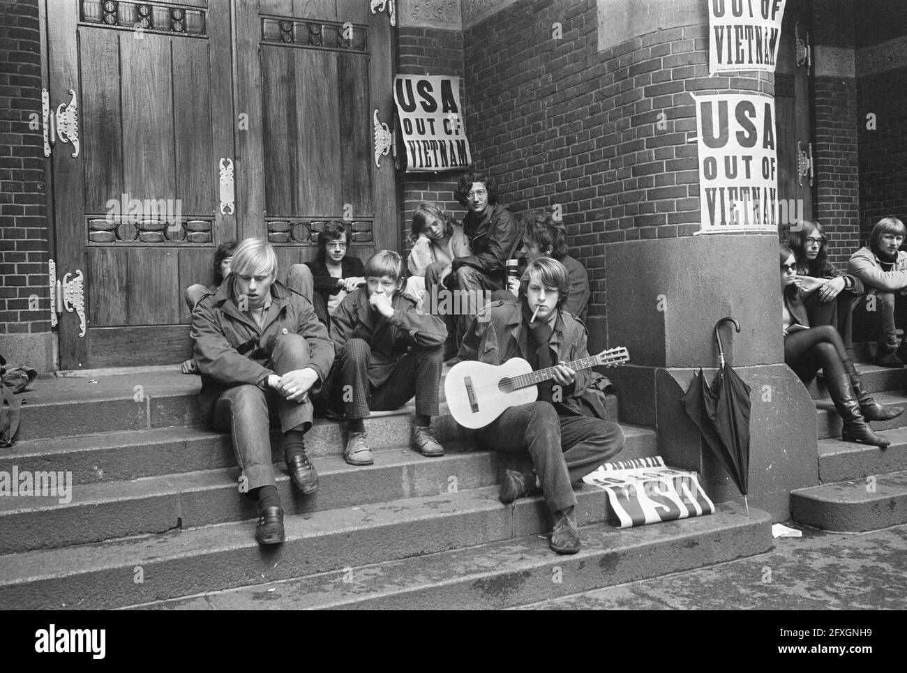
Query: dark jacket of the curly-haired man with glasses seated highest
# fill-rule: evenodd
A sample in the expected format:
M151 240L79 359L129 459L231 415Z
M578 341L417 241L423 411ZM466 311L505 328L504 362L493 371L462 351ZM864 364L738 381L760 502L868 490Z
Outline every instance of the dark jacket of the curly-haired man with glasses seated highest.
M454 258L453 270L473 267L503 284L507 259L516 252L522 237L522 228L513 213L501 203L489 205L481 217L470 210L463 218L463 231L473 254Z

